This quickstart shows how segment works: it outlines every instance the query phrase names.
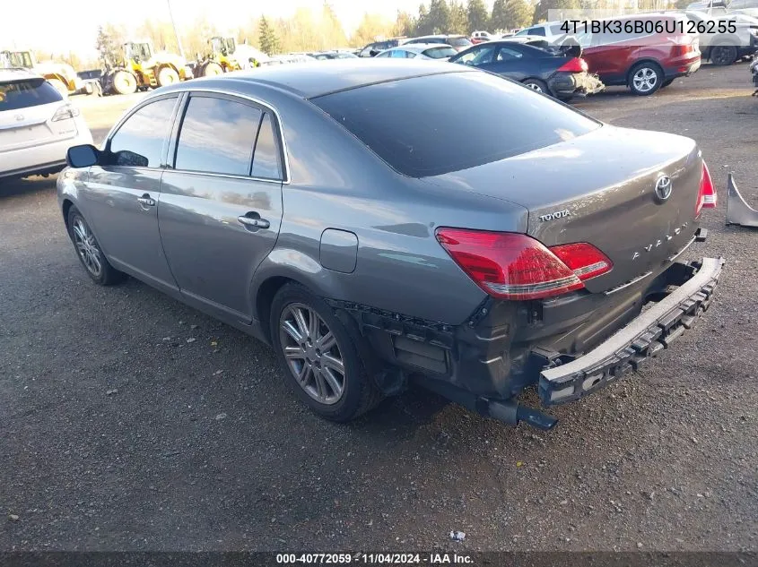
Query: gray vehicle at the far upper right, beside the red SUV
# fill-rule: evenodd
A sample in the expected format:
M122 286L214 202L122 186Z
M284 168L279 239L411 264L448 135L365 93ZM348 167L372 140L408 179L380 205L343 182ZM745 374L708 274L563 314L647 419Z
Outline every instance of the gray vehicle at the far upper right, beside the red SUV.
M687 19L702 26L700 50L703 59L715 65L730 65L758 49L758 20L743 14L711 17L703 12L687 12Z

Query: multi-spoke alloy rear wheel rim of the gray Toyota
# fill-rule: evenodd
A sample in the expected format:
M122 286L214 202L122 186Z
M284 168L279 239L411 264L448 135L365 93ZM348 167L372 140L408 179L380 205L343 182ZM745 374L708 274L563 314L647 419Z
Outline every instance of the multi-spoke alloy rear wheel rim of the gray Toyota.
M308 395L333 405L344 393L344 359L327 323L308 305L287 305L279 318L284 360Z

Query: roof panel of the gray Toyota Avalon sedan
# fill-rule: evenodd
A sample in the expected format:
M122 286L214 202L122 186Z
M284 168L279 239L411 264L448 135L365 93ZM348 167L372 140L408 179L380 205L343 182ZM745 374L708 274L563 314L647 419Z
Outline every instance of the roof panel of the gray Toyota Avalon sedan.
M437 44L435 47L440 47ZM170 90L202 89L204 83L215 87L228 83L229 90L245 90L246 85L263 85L303 99L313 99L338 90L350 90L379 82L400 81L412 77L442 73L478 73L464 65L447 62L404 59L335 59L329 64L287 64L240 71L192 81L178 82ZM165 89L165 88L164 88ZM167 90L159 90L166 92ZM156 91L156 92L159 92Z

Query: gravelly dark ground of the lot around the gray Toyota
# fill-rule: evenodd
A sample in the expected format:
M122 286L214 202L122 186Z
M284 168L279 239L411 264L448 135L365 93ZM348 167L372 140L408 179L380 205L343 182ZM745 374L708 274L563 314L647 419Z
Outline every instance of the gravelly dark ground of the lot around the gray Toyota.
M130 279L91 284L52 179L0 187L0 549L755 550L758 204L746 64L577 107L691 136L719 190L717 301L643 372L556 409L551 433L425 391L352 425L292 398L272 352ZM85 99L96 137L134 99ZM602 159L598 156L597 159ZM398 289L398 293L402 290ZM191 340L195 339L195 340Z

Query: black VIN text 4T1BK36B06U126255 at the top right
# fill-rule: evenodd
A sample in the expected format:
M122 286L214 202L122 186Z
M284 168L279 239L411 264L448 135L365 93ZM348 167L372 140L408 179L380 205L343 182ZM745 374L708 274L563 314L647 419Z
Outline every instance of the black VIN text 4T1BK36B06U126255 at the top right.
M654 33L736 33L735 21L708 20L693 21L665 18L660 20L565 20L561 24L561 31L567 34L597 33L604 35L618 34L629 35L652 35Z

